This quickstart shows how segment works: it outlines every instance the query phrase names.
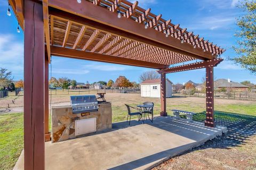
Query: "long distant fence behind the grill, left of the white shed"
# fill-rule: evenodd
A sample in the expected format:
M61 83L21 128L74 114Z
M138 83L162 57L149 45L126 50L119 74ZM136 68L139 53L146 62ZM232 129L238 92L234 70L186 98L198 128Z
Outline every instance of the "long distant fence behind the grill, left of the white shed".
M50 89L49 94L52 95L83 95L97 94L99 92L106 93L125 93L125 94L140 94L140 89Z

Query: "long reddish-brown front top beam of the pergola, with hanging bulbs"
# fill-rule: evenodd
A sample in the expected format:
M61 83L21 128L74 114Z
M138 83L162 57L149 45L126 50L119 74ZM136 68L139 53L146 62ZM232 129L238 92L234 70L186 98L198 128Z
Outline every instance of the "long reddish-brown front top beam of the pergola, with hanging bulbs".
M140 43L146 43L158 48L171 50L172 52L191 56L200 60L214 58L211 53L203 52L203 49L195 49L188 43L182 44L179 39L171 36L166 38L164 33L156 31L155 29L145 30L145 25L124 17L117 18L116 13L111 13L105 8L87 1L84 1L81 4L74 3L73 5L70 5L70 2L67 0L49 0L49 5L53 7L50 11L51 14L95 29L136 40ZM57 10L57 8L59 10ZM64 11L67 11L68 13Z

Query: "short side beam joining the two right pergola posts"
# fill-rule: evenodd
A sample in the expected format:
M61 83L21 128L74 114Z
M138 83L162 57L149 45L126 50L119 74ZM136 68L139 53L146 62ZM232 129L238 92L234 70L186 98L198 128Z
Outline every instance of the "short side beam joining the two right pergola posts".
M207 61L198 62L198 63L191 63L191 64L170 67L168 69L159 70L158 73L174 73L174 72L180 72L180 71L203 69L210 66L214 67L214 66L217 66L222 61L223 61L223 58L216 58L213 60L207 60Z

